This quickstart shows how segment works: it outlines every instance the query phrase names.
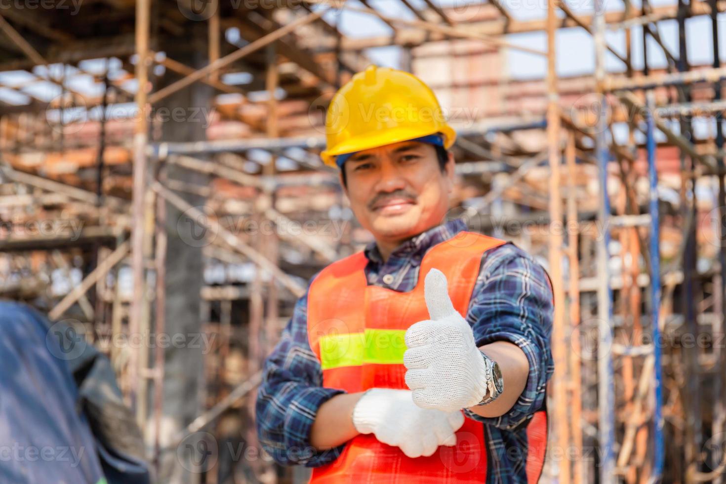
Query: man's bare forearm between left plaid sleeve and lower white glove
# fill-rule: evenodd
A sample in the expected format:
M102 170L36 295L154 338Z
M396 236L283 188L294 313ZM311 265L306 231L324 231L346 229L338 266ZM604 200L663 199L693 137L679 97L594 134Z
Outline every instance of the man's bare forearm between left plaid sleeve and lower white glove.
M323 403L310 430L310 445L319 451L346 443L358 435L353 425L353 409L360 393L341 393Z

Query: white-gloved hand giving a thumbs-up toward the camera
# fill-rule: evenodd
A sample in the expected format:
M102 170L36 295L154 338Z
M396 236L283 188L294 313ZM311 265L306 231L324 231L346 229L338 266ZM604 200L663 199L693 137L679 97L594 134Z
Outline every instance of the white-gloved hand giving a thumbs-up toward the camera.
M423 409L454 411L486 395L486 367L468 322L454 309L446 276L432 268L424 280L428 315L406 332L406 385Z

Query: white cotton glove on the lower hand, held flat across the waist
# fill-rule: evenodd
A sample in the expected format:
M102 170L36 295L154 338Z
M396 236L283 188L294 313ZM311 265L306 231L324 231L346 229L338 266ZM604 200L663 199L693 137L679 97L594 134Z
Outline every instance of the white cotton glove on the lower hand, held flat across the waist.
M372 388L356 403L353 424L362 434L401 448L409 457L431 456L439 446L455 446L464 424L461 411L422 409L409 390Z

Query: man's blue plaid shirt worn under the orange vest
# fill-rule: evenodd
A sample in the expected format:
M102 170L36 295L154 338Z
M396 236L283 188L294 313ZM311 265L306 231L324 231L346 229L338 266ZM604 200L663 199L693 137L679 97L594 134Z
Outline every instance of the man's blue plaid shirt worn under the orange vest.
M426 251L465 229L459 219L433 227L396 247L385 263L372 242L364 250L369 260L365 270L368 284L412 290ZM383 283L387 274L393 276L390 284ZM507 243L484 253L470 298L466 319L477 345L509 341L529 360L526 387L510 411L485 418L465 410L467 417L485 424L488 483L526 482L526 423L544 406L544 390L554 370L550 352L552 290L547 278L531 255ZM307 293L296 303L280 343L265 362L256 420L260 442L276 462L319 467L336 459L345 444L317 451L310 445L310 429L319 406L343 391L322 387L320 363L308 342L306 313Z

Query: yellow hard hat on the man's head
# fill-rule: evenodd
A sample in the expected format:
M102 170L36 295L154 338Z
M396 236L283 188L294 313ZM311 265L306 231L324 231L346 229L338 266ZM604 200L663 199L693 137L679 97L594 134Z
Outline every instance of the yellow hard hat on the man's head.
M325 117L326 165L335 157L386 144L441 134L444 148L456 140L436 95L415 75L372 65L341 87Z

